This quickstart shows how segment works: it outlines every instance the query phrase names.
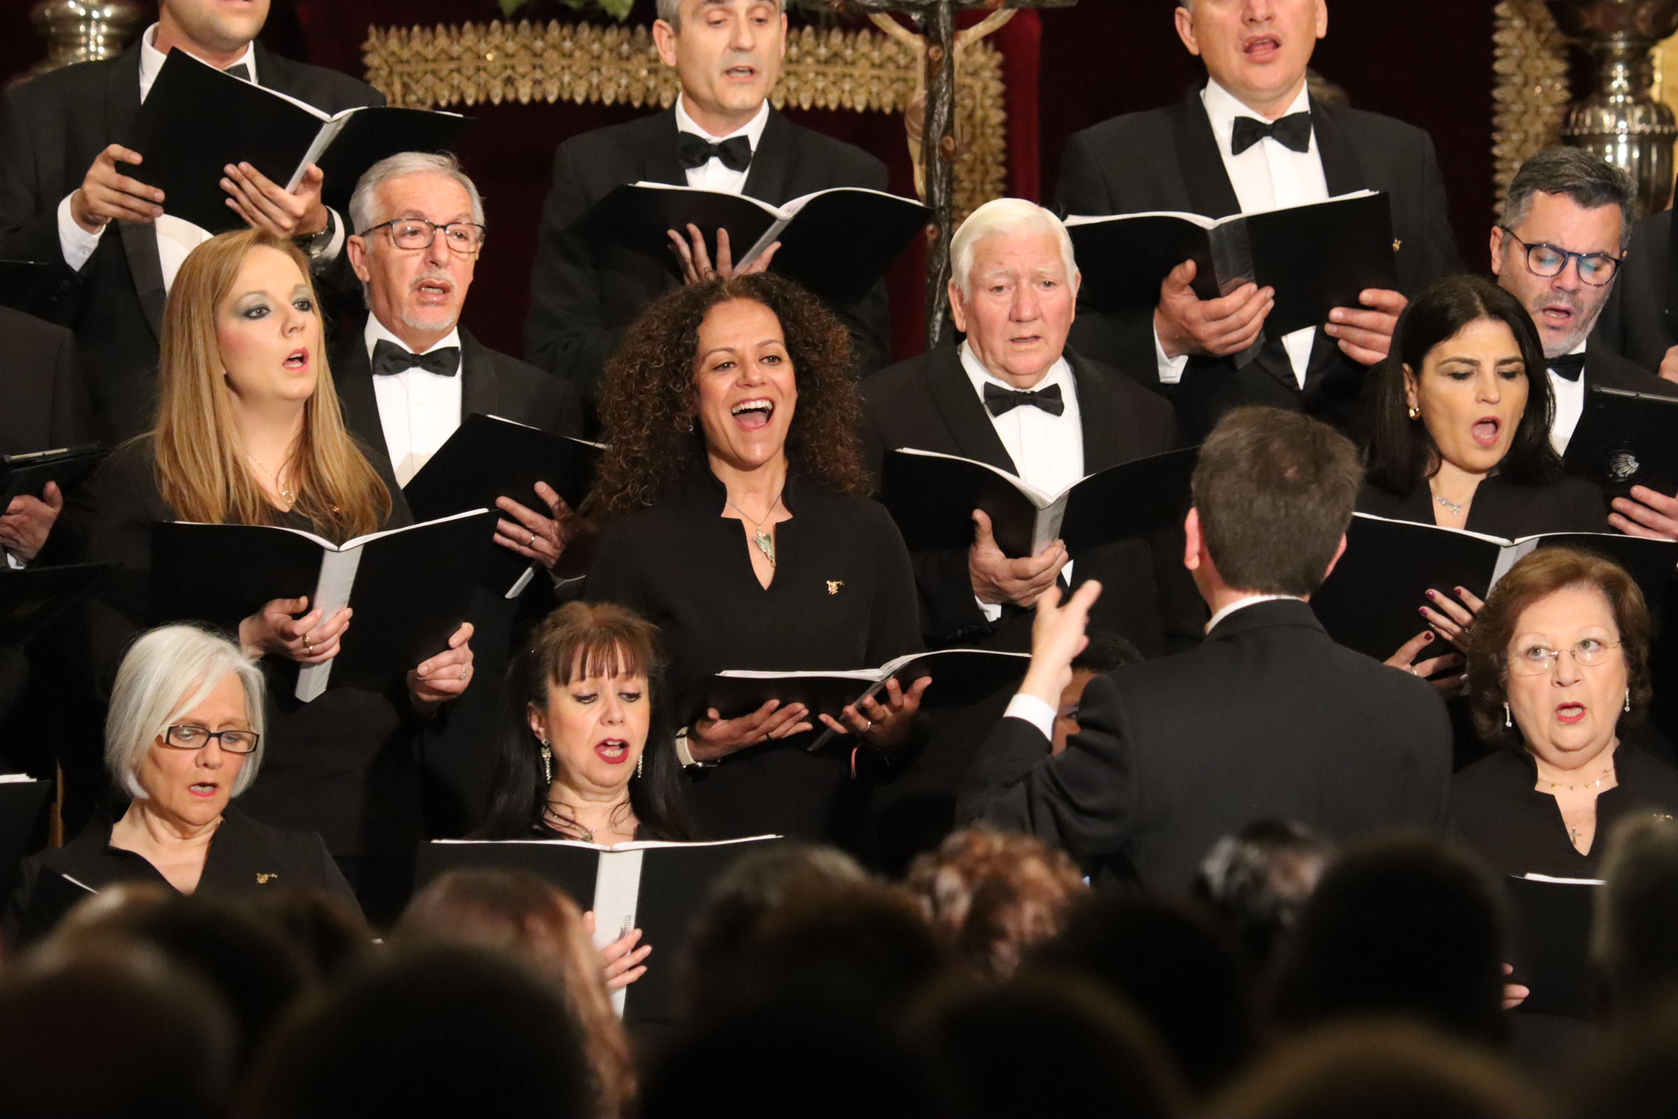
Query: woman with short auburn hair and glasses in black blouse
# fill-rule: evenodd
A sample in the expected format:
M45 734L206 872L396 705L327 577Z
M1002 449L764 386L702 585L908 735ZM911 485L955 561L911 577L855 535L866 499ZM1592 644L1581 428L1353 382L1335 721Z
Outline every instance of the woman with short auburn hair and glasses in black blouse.
M1539 549L1475 621L1475 728L1505 748L1451 780L1451 827L1503 874L1599 877L1629 815L1678 815L1678 770L1623 742L1649 701L1649 612L1613 560Z

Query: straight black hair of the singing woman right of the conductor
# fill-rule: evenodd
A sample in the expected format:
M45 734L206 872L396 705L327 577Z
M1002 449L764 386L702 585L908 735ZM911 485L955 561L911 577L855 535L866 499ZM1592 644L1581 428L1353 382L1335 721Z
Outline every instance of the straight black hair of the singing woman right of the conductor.
M1527 409L1520 413L1515 440L1497 473L1519 485L1544 485L1561 476L1562 463L1550 446L1556 404L1550 399L1549 362L1532 315L1497 284L1477 275L1451 275L1416 292L1398 317L1386 361L1376 366L1374 418L1364 470L1369 481L1388 493L1410 497L1440 470L1440 448L1428 424L1410 418L1404 366L1420 381L1428 354L1482 320L1502 322L1515 336L1527 379Z

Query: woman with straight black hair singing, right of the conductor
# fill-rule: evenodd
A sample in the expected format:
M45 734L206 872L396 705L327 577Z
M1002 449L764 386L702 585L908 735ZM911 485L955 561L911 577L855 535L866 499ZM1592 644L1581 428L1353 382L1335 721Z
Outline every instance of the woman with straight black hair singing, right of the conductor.
M1514 295L1473 275L1423 287L1398 319L1376 371L1358 512L1517 539L1608 532L1602 492L1562 473L1550 446L1550 381L1532 317ZM1527 376L1529 371L1534 376ZM1388 664L1410 668L1435 632L1465 651L1480 599L1463 587L1418 604L1430 629ZM1431 676L1455 656L1423 661ZM1455 693L1457 676L1441 683Z

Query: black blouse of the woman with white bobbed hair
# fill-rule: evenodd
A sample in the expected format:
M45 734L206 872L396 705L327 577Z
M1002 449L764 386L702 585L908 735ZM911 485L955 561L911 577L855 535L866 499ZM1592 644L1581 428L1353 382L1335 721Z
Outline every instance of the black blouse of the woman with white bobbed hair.
M42 886L42 871L55 871L94 891L116 882L156 882L175 889L144 856L112 847L111 827L111 817L99 814L72 842L18 864L18 881L5 909L8 946L50 931L50 924L81 899L79 889ZM230 804L210 837L196 893L237 898L262 889L317 889L361 913L319 835L258 824Z

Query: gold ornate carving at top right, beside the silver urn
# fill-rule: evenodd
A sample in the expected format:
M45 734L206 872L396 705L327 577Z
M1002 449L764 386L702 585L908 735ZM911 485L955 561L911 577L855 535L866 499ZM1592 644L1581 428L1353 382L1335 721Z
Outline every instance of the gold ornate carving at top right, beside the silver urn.
M1502 208L1520 164L1561 139L1567 44L1542 0L1500 0L1493 13L1492 159Z

